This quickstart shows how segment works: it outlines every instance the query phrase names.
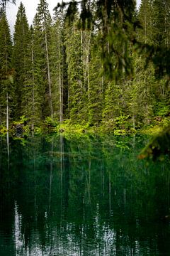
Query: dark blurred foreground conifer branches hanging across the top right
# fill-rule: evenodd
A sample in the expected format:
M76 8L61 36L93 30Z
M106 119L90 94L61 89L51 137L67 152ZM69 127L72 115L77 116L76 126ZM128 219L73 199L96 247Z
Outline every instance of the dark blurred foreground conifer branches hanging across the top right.
M91 9L94 6L95 11ZM162 8L159 0L147 1L143 0L142 5L155 4L158 8ZM169 9L167 1L162 1L165 13ZM77 13L78 6L81 6L80 21L83 29L86 26L94 24L98 27L102 26L101 33L101 47L102 47L102 59L105 71L110 78L120 76L121 71L124 69L127 75L132 73L132 63L130 55L126 50L128 43L131 43L140 53L146 55L146 66L149 62L152 62L155 69L155 75L157 78L162 78L164 75L170 75L169 58L170 50L166 46L153 45L146 42L141 42L137 37L137 28L142 27L141 22L137 16L136 1L134 0L82 0L82 1L62 1L62 4L57 4L57 9L67 9L67 18L69 21L74 19L74 14ZM158 10L159 11L159 10ZM162 15L162 14L160 14ZM165 17L166 18L166 17ZM166 23L168 23L168 19ZM165 28L166 30L166 28ZM115 38L119 41L123 41L123 46L116 48ZM108 41L108 47L106 47L106 41ZM124 49L123 49L124 48ZM111 55L116 56L116 63L113 65L113 59Z

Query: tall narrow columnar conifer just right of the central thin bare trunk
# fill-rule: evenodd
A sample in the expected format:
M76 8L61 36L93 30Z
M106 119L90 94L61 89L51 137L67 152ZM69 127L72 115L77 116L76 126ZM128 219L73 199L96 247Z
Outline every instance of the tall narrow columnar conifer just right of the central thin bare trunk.
M84 102L87 97L84 87L84 69L81 43L81 30L77 28L77 20L72 27L67 28L66 53L68 65L68 110L72 122L84 120L86 106Z

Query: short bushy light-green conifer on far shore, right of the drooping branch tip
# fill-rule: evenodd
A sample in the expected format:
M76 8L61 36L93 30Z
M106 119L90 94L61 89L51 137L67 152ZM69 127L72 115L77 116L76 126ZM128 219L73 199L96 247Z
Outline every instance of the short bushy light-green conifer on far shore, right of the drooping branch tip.
M133 127L150 124L154 116L155 86L154 68L150 64L145 70L145 60L137 55L134 57L135 78L128 85L128 110Z

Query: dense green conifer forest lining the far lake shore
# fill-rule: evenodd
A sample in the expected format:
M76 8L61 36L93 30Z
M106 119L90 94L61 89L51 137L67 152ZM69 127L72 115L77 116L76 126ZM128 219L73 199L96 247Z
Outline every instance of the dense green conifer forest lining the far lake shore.
M32 26L21 3L13 40L1 9L1 130L13 122L33 130L69 122L134 132L169 123L169 1L143 0L127 17L116 6L105 15L99 2L84 1L80 12L72 1L52 18L40 0ZM153 59L154 48L164 51Z

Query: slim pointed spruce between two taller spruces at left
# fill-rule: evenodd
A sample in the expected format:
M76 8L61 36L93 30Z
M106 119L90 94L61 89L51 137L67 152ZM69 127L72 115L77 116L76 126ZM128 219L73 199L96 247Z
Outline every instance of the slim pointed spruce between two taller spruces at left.
M42 121L42 102L43 102L43 80L41 77L40 67L38 60L35 60L36 51L35 33L33 27L30 27L29 45L27 54L27 68L26 78L23 83L23 97L22 97L22 114L27 117L28 122L31 124L31 129L39 125ZM42 83L42 84L41 84Z

